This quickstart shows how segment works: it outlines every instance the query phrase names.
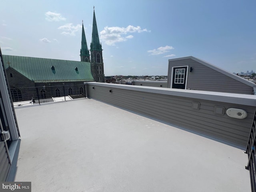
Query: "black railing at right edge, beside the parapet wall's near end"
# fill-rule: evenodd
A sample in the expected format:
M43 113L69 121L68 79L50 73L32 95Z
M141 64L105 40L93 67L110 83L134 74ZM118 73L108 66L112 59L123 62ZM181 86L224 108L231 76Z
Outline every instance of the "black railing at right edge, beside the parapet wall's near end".
M246 148L246 153L248 154L248 164L245 167L250 171L251 187L252 192L256 192L256 113L254 114L254 120L252 123L252 128Z

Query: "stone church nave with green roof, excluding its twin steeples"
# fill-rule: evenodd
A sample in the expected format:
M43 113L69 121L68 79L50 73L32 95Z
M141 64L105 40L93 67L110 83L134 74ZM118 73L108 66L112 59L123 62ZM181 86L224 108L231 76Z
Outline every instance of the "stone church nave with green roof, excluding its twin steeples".
M89 62L10 55L3 55L3 61L14 102L35 97L37 91L31 91L32 87L40 87L40 99L82 95L85 93L83 83L94 81Z

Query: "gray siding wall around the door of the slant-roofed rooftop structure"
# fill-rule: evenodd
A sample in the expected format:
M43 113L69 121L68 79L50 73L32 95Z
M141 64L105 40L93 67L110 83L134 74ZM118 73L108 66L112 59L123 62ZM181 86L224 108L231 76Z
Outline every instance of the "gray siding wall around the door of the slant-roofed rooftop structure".
M171 87L172 67L188 66L186 89L238 94L252 94L253 88L226 76L192 59L170 61L168 67L168 88ZM189 72L190 67L193 68Z

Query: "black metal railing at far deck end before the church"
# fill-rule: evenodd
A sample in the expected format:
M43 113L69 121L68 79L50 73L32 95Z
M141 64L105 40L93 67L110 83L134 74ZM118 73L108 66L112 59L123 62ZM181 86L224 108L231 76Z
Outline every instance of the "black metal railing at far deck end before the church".
M45 102L66 101L86 97L85 85L61 85L10 88L14 106L42 104Z

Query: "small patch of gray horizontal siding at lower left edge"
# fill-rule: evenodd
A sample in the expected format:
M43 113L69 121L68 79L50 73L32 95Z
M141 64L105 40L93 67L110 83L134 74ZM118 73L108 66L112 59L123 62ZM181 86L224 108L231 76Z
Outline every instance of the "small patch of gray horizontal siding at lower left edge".
M0 142L0 181L6 180L10 166L4 142Z

